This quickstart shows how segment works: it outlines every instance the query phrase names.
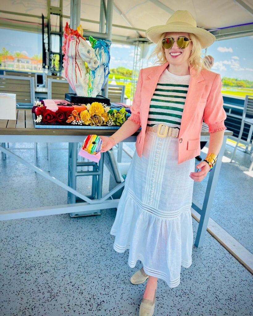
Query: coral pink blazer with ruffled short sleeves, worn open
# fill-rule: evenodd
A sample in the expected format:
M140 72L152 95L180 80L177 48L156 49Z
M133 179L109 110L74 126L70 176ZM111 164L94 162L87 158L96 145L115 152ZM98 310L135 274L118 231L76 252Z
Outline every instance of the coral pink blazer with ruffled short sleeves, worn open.
M168 65L169 62L143 68L139 73L131 106L131 116L128 118L141 125L141 131L135 143L139 157L141 157L145 142L151 98L160 75ZM200 155L200 133L203 119L209 127L209 133L227 129L224 125L227 116L223 108L220 75L203 69L198 76L193 76L195 71L193 67L190 67L189 88L178 135L178 164Z

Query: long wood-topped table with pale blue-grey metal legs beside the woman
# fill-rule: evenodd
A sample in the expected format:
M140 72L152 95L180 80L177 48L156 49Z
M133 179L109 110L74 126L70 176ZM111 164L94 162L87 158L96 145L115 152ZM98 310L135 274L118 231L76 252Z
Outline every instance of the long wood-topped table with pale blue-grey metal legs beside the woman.
M95 132L96 131L96 132ZM111 136L116 130L112 129L94 129L94 128L83 128L83 129L54 129L54 128L34 128L33 118L31 110L20 109L17 110L17 119L16 120L0 120L0 151L2 151L2 157L4 159L5 155L9 155L14 158L16 161L21 162L26 167L31 170L39 173L43 177L49 179L53 183L61 186L68 191L68 202L71 202L71 194L75 195L85 202L83 203L68 203L64 205L55 205L51 207L38 207L30 209L16 209L16 210L4 210L0 211L0 220L10 220L17 218L26 218L34 216L45 216L45 215L54 215L54 214L64 214L71 212L82 212L87 211L87 214L90 211L101 210L101 209L110 209L117 208L119 199L112 199L112 194L118 191L121 187L124 186L125 181L116 185L116 187L109 191L104 197L102 197L102 177L103 177L103 161L104 153L101 153L101 158L98 164L96 164L96 170L87 171L91 175L96 174L98 177L96 185L97 198L91 199L88 196L83 195L81 192L78 192L71 177L68 177L68 185L59 181L55 177L50 176L47 172L41 170L40 168L34 166L33 164L25 161L18 155L15 155L7 148L5 148L5 143L55 143L63 142L69 143L69 174L72 174L76 170L77 166L77 143L83 142L85 136L89 134ZM124 139L124 142L135 142L136 137L139 134L138 130L132 136ZM225 150L226 140L228 135L232 135L233 132L225 130L223 143L217 158L217 162L213 167L213 170L209 173L209 178L207 182L207 188L205 192L203 205L199 204L197 201L192 202L192 208L200 214L200 222L198 226L197 236L195 240L195 246L203 246L204 237L207 231L207 223L210 217L211 207L213 204L213 198L215 193L215 188L218 181L219 171L221 167L222 157ZM208 132L208 126L203 122L200 141L207 141L210 137ZM74 154L75 153L75 154ZM83 162L83 164L88 162ZM92 165L93 162L90 162ZM96 178L96 176L93 177ZM1 179L3 180L3 179ZM92 187L94 186L94 183Z

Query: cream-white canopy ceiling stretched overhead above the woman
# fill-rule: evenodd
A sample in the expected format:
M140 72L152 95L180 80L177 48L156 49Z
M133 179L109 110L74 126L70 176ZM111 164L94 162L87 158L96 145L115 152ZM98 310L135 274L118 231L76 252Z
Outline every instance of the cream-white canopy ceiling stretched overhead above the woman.
M58 2L51 0L51 5L58 6ZM1 0L0 27L41 33L41 14L47 16L46 4L46 0ZM146 29L165 24L176 10L188 10L197 26L212 31L217 40L253 34L253 0L114 0L112 40L145 40ZM63 0L63 16L65 24L69 21L70 0ZM84 30L99 32L99 16L100 0L81 0ZM51 25L56 22L51 20Z

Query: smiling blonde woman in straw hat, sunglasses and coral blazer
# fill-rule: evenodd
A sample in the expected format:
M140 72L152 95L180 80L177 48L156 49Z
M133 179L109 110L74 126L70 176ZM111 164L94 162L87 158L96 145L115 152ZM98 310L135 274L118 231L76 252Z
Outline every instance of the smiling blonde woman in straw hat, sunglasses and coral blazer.
M153 315L157 279L177 287L181 266L192 264L193 184L216 162L226 129L220 75L207 70L201 58L213 34L196 27L188 11L178 10L146 36L157 44L151 56L158 65L140 70L131 116L111 137L101 137L104 152L141 126L111 234L115 251L129 249L131 268L137 260L143 264L130 279L140 284L148 278L142 316ZM203 119L209 150L194 172Z

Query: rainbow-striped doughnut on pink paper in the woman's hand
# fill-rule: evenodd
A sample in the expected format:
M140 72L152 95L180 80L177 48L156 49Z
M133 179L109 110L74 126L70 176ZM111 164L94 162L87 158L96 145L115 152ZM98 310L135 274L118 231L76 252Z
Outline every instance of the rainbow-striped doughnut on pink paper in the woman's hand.
M78 155L84 158L88 158L89 160L98 162L101 157L101 149L102 139L97 135L89 134L83 142L83 146L80 149Z

